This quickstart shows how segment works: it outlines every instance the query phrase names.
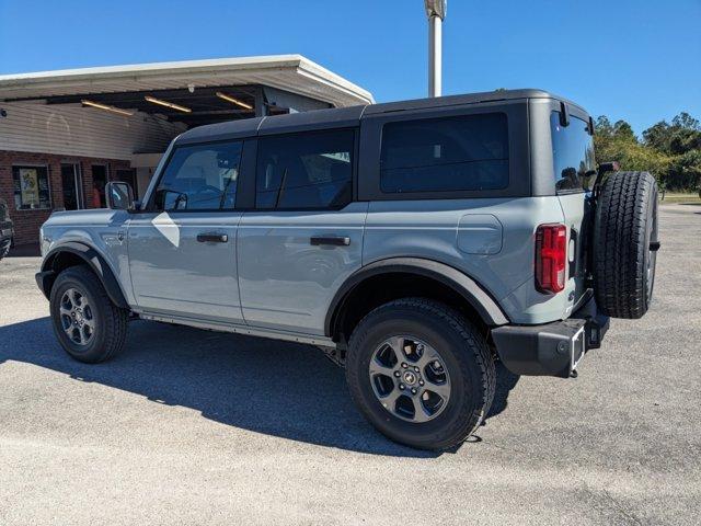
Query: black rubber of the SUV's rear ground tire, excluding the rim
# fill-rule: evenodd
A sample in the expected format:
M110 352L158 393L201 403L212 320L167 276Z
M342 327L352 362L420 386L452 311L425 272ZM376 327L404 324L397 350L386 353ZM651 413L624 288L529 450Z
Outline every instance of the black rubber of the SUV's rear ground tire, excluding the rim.
M372 391L368 367L375 350L395 334L411 334L439 350L451 378L450 398L434 420L406 422L386 410ZM368 313L350 335L346 380L360 412L394 442L420 449L450 449L482 423L494 399L494 359L480 331L438 301L404 298Z

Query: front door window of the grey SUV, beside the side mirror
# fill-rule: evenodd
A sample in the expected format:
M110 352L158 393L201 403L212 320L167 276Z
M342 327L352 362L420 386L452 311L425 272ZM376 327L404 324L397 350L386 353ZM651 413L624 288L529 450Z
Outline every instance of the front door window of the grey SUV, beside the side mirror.
M177 147L156 190L156 208L234 208L241 148L240 141Z

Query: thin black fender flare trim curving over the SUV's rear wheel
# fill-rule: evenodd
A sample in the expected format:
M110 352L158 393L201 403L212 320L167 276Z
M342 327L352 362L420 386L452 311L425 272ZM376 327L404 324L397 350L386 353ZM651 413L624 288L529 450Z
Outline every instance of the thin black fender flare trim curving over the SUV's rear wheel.
M449 286L462 296L479 313L482 321L489 327L498 327L509 323L508 318L492 298L474 279L450 265L422 258L389 258L370 263L353 273L334 295L326 318L324 320L324 333L332 336L338 321L338 313L353 289L365 279L380 274L406 273L429 277Z

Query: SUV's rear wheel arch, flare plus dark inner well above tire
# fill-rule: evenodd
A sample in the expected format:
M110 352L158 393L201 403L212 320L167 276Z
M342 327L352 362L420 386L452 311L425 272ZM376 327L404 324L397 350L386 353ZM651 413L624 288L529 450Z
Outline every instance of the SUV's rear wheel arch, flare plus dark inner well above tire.
M430 296L448 295L452 302L461 302L461 310L474 315L483 327L498 327L509 322L497 302L474 279L461 271L433 260L421 258L391 258L376 261L352 274L334 295L324 320L324 333L338 340L348 321L348 310L358 306L364 293L375 290L380 281L388 284L403 282L409 290L403 296L414 296L411 288L425 288L435 284ZM384 285L382 283L382 285ZM435 293L435 294L434 294ZM391 296L391 295L390 295ZM400 294L402 296L402 294ZM438 297L438 299L440 299ZM455 305L453 305L455 306Z

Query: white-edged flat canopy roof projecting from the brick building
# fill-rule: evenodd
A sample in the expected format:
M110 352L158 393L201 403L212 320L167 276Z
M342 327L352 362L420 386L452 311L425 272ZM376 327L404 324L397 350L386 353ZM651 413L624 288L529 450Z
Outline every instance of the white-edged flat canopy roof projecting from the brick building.
M267 91L266 91L267 90ZM248 105L232 107L225 92ZM191 107L193 112L153 106L145 94ZM0 76L0 102L43 100L47 104L84 99L114 107L159 113L188 126L251 116L262 104L275 113L277 99L297 95L342 107L372 103L372 95L301 55L187 60L131 66L68 69ZM274 100L271 100L274 99ZM312 104L313 106L313 104ZM280 106L284 108L284 106Z

